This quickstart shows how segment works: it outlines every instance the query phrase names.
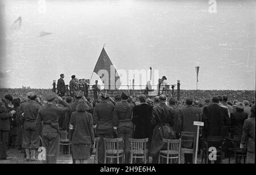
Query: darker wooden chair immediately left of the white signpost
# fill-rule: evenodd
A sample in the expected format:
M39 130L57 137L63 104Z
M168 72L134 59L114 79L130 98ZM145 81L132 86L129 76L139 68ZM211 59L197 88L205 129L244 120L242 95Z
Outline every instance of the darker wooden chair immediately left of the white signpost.
M191 148L183 147L183 144L191 144ZM196 152L196 133L195 132L181 132L181 153L192 153L193 164L195 164Z

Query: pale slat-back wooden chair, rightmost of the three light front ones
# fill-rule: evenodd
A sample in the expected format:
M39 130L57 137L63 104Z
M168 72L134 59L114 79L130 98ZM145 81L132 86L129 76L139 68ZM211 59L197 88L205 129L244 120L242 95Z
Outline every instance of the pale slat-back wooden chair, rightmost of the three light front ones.
M158 163L160 164L160 157L167 159L167 164L169 163L169 159L178 159L178 163L180 164L180 148L181 148L181 139L163 139L164 143L167 143L167 150L161 150L159 152Z

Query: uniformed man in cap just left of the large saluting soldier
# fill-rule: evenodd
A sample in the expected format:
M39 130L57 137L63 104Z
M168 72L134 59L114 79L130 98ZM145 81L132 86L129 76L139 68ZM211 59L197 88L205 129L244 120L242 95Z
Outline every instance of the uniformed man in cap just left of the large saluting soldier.
M20 114L22 114L23 140L22 147L26 151L26 160L36 160L35 150L39 148L39 135L36 130L36 116L41 108L41 105L36 101L37 96L35 92L28 92L27 103L22 105Z

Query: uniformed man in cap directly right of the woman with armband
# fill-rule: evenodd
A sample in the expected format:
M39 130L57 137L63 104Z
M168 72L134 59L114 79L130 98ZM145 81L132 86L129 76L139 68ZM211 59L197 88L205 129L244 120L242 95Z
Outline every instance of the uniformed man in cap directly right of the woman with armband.
M93 127L100 136L98 142L98 163L104 163L104 140L103 138L113 138L113 112L114 105L108 102L109 95L101 94L102 101L97 104L93 111Z

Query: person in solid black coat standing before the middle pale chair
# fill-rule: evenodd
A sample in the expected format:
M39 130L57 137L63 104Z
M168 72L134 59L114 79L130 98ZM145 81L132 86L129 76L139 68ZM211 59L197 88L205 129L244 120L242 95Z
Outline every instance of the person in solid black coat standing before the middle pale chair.
M146 103L146 99L146 95L140 95L141 103L133 108L134 138L136 139L148 138L150 140L151 137L152 106Z

